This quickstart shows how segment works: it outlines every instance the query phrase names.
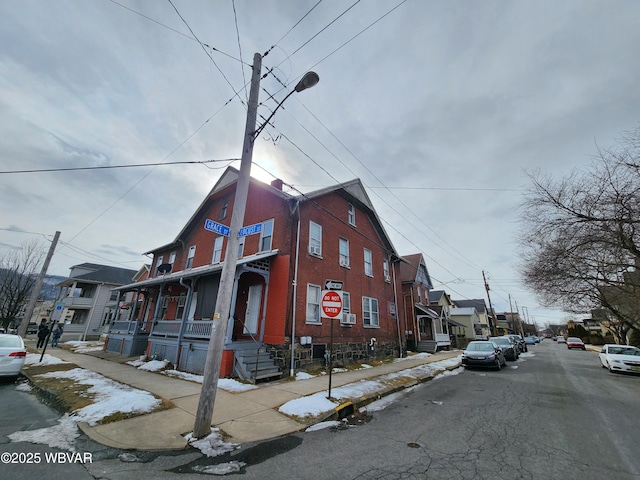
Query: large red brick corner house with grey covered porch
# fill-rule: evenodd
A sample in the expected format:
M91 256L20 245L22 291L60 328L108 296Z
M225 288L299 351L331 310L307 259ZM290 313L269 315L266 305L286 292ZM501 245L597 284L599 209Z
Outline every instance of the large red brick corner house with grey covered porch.
M175 240L148 252L149 278L118 288L138 301L111 326L108 351L203 372L227 246L211 221L229 225L237 178L228 168ZM252 178L244 225L257 227L240 239L221 377L323 367L329 353L334 364L399 355L399 256L359 180L292 196ZM321 316L328 280L343 292L333 321Z

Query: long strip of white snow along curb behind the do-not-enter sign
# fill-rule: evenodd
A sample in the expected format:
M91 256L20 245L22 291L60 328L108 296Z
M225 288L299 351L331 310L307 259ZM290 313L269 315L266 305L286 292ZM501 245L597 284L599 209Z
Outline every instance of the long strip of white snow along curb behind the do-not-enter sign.
M278 409L278 411L280 413L284 413L285 415L296 417L317 417L335 409L335 407L340 403L341 400L359 398L364 395L380 391L384 388L385 382L389 380L395 380L398 378L423 378L425 376L435 375L437 374L437 372L446 369L447 367L458 365L460 363L460 358L461 356L458 355L447 360L433 362L425 365L420 365L418 367L401 370L396 373L382 375L373 380L361 380L359 382L354 382L342 387L334 388L331 390L331 397L337 402L329 400L327 398L328 392L324 391L318 392L313 395L307 395L306 397L290 400L289 402L282 405ZM449 374L456 375L457 373L450 372ZM437 375L435 378L441 378L444 376L447 376L447 374L440 373L440 375ZM393 395L390 396L392 397ZM389 403L392 403L394 400L395 399L390 400ZM377 406L374 405L372 408L377 408L381 405L386 406L389 403L381 403ZM381 408L384 408L384 406L382 406Z

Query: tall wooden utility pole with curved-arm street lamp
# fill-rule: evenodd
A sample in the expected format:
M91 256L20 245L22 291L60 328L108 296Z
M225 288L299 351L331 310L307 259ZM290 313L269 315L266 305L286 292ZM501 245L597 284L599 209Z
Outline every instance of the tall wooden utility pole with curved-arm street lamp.
M202 390L198 401L198 411L193 426L193 437L202 438L211 433L211 419L213 418L213 407L216 400L216 390L218 388L218 378L220 377L220 366L222 364L222 353L224 341L227 335L227 325L231 311L231 298L233 295L233 284L238 263L238 232L244 222L244 212L247 206L247 196L249 194L249 182L251 173L251 159L253 157L253 144L260 132L265 128L269 120L282 106L287 98L294 92L301 92L313 87L318 83L320 77L317 73L309 72L295 86L273 110L269 118L256 130L256 117L258 115L258 93L260 90L260 70L262 68L262 56L256 53L253 56L253 67L251 75L251 90L249 91L249 102L247 104L247 121L244 131L244 144L242 147L242 158L240 160L240 171L236 184L236 198L233 202L233 212L231 214L231 225L229 226L229 240L227 250L224 255L222 272L220 274L220 285L216 300L215 312L213 314L213 325L209 347L207 349L207 359L204 366Z

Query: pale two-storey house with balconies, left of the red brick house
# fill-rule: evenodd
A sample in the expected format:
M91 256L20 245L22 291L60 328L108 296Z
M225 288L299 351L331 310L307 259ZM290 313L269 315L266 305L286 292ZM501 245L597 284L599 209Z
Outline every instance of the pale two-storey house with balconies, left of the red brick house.
M64 340L100 338L117 307L118 292L131 283L135 270L82 263L71 267L69 278L58 283L58 302L63 304L60 322L64 322Z

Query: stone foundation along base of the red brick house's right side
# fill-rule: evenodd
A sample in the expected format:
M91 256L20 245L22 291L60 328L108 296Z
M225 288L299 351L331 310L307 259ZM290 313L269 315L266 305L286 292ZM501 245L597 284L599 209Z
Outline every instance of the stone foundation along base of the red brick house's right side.
M290 345L265 345L271 358L287 376L291 369ZM294 369L295 371L312 371L326 368L325 346L300 345L295 346ZM322 348L324 347L324 348ZM334 367L350 365L352 363L367 363L370 360L384 360L397 358L399 355L396 343L376 343L373 348L368 343L341 343L333 346L332 360Z

